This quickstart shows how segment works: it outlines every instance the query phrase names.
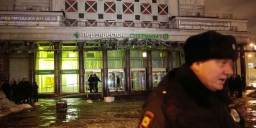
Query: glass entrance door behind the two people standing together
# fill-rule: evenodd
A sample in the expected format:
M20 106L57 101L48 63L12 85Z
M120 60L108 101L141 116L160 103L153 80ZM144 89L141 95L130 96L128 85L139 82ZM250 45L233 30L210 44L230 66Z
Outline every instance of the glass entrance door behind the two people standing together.
M90 75L96 75L98 77L98 79L100 79L100 81L102 81L101 80L101 69L85 69L85 90L88 93L90 92L90 86L89 86L89 82L88 82ZM98 93L102 92L102 82L94 82L94 84L97 84ZM92 87L92 92L96 93L97 92L96 88Z

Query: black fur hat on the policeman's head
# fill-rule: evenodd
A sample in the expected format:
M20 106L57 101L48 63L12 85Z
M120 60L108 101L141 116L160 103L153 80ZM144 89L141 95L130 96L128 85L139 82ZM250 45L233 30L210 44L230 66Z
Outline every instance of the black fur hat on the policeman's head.
M238 57L237 42L232 35L222 35L216 31L207 31L191 36L184 46L185 61L192 65L195 61L209 59L232 59Z

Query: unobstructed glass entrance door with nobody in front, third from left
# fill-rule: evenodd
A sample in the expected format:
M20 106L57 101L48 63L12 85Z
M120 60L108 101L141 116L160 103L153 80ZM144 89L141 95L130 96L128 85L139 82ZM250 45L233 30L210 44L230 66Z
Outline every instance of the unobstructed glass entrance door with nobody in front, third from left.
M131 90L146 90L146 70L131 69Z

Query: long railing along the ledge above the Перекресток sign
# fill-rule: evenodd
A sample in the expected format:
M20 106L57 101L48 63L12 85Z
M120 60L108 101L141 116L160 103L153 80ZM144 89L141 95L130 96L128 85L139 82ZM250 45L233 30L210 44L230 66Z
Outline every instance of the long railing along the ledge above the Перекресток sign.
M143 22L132 23L129 26L123 22L115 22L115 24L109 25L106 22L97 22L97 24L88 25L88 22L74 22L73 24L68 24L68 21L63 23L60 22L42 22L40 21L8 21L0 20L0 26L67 26L67 27L136 27L136 28L162 28L162 29L191 29L191 30L220 30L220 31L238 31L237 26L204 26L204 25L179 25L179 24L169 24L162 22L159 23L149 23L147 26Z

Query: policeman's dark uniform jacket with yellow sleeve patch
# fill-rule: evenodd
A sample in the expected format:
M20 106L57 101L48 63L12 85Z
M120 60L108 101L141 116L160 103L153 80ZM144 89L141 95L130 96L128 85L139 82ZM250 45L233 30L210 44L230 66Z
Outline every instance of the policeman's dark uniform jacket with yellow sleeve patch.
M230 113L232 112L232 113ZM143 105L139 127L238 128L244 119L224 91L212 92L184 64L168 73Z

